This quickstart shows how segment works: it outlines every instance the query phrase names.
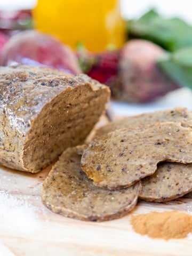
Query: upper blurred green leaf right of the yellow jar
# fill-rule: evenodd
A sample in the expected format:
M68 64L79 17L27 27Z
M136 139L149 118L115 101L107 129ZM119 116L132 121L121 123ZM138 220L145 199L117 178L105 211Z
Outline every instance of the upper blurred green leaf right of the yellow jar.
M128 27L131 37L148 39L169 51L192 46L191 26L179 18L165 19L155 10L128 21Z

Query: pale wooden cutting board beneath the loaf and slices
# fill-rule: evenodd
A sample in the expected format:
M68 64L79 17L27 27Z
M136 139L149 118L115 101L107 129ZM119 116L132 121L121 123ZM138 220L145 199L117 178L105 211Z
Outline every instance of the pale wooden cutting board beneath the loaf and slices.
M192 199L166 204L139 202L125 217L101 223L52 213L41 202L50 167L26 174L0 167L0 255L192 255L191 239L151 239L134 233L133 214L178 210L192 214ZM177 223L175 223L177 225Z

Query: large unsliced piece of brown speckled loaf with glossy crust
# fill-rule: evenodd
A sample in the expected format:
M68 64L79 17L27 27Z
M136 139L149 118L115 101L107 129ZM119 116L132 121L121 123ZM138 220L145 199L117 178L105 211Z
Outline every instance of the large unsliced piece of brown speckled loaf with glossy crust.
M50 68L0 68L0 163L38 172L82 143L110 91L86 75Z

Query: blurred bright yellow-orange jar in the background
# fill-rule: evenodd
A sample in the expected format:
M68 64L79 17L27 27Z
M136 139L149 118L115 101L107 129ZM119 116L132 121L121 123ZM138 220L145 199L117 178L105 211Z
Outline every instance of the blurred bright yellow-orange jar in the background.
M125 42L125 23L118 0L38 0L35 28L76 49L81 42L92 52Z

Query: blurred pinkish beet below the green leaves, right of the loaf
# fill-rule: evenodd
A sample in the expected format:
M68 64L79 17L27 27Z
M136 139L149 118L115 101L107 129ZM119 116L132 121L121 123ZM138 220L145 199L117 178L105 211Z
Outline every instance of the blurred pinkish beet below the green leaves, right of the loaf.
M134 39L127 42L119 61L118 97L130 102L149 102L177 89L178 84L156 65L164 52L149 41Z

